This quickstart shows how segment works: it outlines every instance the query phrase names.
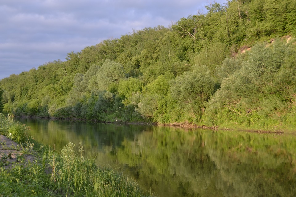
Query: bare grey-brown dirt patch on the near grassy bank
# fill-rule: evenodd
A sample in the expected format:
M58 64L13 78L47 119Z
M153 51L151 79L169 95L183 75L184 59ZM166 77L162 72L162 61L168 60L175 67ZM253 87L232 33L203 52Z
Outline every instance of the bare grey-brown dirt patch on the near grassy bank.
M35 159L34 155L29 154L29 150L4 135L0 135L0 167L9 169L14 164L26 165Z

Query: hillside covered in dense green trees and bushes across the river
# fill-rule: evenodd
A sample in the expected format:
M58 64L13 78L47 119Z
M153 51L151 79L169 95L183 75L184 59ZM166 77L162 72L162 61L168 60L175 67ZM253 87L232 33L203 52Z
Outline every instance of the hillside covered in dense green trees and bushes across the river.
M231 0L206 9L169 28L133 31L72 51L64 62L12 74L0 81L0 110L109 122L296 127L296 1Z

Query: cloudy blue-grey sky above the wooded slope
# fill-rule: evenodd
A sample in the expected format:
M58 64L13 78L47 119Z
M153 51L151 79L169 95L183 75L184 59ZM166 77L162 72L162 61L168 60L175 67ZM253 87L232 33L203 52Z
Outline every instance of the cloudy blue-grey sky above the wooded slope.
M168 27L203 12L211 1L1 0L0 79L54 60L65 61L71 51L133 30Z

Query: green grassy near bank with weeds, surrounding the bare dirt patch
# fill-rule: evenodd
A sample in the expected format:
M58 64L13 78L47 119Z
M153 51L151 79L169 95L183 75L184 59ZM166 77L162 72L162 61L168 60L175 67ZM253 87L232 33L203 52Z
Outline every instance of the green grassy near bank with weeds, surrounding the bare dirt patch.
M20 143L6 147L20 151L10 168L5 168L5 159L11 155L1 153L0 196L152 196L134 179L84 157L81 143L79 153L74 151L74 143L58 153L28 137L27 129L0 114L0 134ZM35 155L36 161L27 161L25 154Z

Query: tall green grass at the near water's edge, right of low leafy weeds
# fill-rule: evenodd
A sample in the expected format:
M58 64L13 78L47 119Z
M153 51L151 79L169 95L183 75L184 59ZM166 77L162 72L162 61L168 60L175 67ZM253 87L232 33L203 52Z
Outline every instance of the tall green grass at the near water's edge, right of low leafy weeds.
M94 159L74 151L74 143L69 143L61 154L48 150L48 164L52 167L51 177L57 183L57 191L66 196L152 196L143 191L134 179L124 177L120 172L98 166Z

